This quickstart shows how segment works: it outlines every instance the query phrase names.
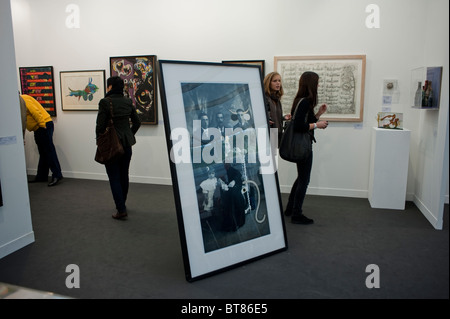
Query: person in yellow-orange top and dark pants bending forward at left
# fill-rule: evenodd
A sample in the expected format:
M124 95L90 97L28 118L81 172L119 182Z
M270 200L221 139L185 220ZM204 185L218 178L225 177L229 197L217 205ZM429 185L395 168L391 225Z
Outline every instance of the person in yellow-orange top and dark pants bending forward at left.
M33 182L48 182L49 170L52 171L52 180L48 186L57 185L62 179L61 165L53 144L54 125L50 114L32 96L20 96L27 107L27 130L34 132L34 141L39 151L37 174Z

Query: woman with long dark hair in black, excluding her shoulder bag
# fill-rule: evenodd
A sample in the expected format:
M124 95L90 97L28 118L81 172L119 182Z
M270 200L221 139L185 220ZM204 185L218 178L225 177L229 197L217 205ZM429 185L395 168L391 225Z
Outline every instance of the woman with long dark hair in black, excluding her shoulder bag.
M320 106L319 111L314 113L317 106L317 88L319 86L319 75L314 72L304 72L299 81L297 95L292 103L291 115L294 116L294 131L307 132L311 131L311 143L314 137L315 129L325 129L328 126L327 121L319 121L320 116L326 112L327 105ZM298 109L298 110L297 110ZM306 118L306 121L305 121ZM297 179L292 186L289 194L289 202L285 211L285 215L291 217L293 224L312 224L314 221L303 215L303 201L305 199L306 190L311 176L313 155L305 160L296 163Z

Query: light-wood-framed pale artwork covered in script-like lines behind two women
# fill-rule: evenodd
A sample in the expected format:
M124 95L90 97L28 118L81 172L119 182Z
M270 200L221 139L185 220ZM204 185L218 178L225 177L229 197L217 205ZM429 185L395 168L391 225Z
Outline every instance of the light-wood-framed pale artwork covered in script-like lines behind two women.
M362 122L364 111L365 55L276 56L275 71L280 73L284 95L284 114L289 113L303 72L319 75L318 105L327 104L321 119Z

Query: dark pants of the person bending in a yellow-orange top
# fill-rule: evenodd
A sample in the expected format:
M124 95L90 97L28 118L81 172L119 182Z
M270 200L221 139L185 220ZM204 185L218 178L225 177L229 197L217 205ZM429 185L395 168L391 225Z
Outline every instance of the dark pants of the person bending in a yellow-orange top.
M47 122L46 128L38 128L34 131L34 141L39 151L37 180L47 180L48 171L51 170L53 178L61 178L61 165L59 165L58 155L53 144L53 122Z

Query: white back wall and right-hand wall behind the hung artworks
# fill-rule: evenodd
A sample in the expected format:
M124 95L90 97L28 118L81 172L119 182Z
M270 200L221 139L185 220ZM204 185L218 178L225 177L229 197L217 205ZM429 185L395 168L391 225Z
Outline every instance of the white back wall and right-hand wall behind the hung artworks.
M74 12L66 12L70 4L79 8L79 28L66 26L74 21ZM379 27L367 23L376 18L376 12L366 12L371 4L379 8ZM109 57L156 55L265 60L268 73L275 56L364 54L364 120L331 122L316 131L308 193L368 197L372 127L382 111L383 80L395 79L400 99L391 111L402 112L404 127L412 131L407 199L439 228L448 202L447 0L11 0L11 6L17 72L22 66L54 68L54 142L64 176L106 179L104 167L93 160L96 112L62 111L60 71L104 69L108 77ZM410 107L411 70L422 66L443 66L438 111ZM158 108L159 125L143 125L137 133L133 182L171 184L159 100ZM38 152L32 133L26 134L25 151L27 171L34 174ZM289 192L294 164L280 160L278 173L281 191Z

